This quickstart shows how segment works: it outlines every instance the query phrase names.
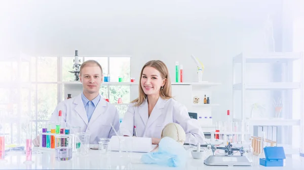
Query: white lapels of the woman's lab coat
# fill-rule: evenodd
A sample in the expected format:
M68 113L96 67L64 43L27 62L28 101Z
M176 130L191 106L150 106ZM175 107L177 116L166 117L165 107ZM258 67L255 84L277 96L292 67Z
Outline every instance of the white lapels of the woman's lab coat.
M163 114L161 109L165 107L166 101L167 101L166 99L159 97L159 99L157 100L157 102L151 112L150 117L148 115L147 99L145 99L145 101L140 105L139 113L140 113L140 117L141 117L143 123L146 125L146 129L151 124L153 124L157 120L158 117L160 117Z

